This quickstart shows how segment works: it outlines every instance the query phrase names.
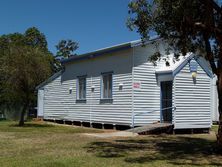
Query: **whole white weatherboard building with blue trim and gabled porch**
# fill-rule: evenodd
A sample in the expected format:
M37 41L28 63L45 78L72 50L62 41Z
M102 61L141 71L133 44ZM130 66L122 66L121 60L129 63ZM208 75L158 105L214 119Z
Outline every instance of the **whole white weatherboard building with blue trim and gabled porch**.
M210 128L213 74L198 55L149 62L165 44L124 43L63 60L64 71L38 86L38 115L46 120L174 129ZM166 59L170 66L166 66Z

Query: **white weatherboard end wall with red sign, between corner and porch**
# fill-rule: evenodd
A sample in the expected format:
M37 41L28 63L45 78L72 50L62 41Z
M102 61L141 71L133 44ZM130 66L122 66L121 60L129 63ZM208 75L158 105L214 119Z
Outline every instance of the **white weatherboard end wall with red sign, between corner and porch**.
M160 86L155 71L164 65L164 61L157 62L156 66L149 62L149 57L157 50L163 50L162 43L138 46L133 51L133 83L140 85L133 91L133 112L138 115L135 116L136 126L160 121Z

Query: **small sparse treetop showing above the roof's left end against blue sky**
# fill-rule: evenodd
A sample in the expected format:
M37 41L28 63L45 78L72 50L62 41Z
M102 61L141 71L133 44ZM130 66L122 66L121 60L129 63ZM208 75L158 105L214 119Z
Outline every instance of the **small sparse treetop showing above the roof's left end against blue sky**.
M79 46L77 42L72 40L61 40L59 41L58 45L56 45L56 57L63 59L73 56L73 52L78 48Z

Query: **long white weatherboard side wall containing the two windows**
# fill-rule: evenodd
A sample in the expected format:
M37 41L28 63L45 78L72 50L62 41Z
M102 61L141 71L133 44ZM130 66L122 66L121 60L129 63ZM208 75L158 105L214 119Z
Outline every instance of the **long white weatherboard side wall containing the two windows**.
M103 72L113 72L113 99L108 102L100 100ZM86 102L76 101L77 77L82 75L87 76ZM131 49L67 64L62 76L45 86L44 118L131 125L131 85Z

